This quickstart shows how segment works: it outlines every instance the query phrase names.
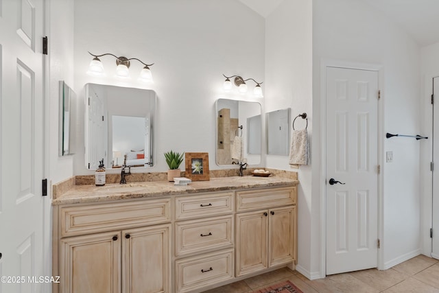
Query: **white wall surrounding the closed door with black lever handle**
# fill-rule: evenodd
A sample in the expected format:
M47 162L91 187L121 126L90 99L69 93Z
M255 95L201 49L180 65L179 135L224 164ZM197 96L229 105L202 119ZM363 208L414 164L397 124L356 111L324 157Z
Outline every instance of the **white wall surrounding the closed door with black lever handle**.
M385 132L420 132L420 49L399 27L357 0L313 1L313 160L321 161L324 121L320 120L320 66L324 59L382 65L379 87L381 135L382 255L380 268L420 252L420 145L415 139L385 139ZM385 163L385 152L393 163ZM320 162L323 163L323 162ZM312 197L321 198L324 178L313 165ZM316 226L318 228L318 226ZM322 243L323 240L320 242ZM313 253L319 253L314 251ZM311 271L319 263L311 263Z

